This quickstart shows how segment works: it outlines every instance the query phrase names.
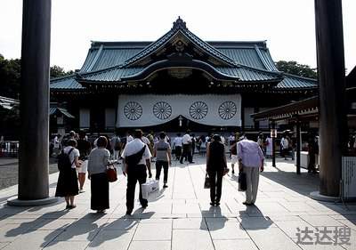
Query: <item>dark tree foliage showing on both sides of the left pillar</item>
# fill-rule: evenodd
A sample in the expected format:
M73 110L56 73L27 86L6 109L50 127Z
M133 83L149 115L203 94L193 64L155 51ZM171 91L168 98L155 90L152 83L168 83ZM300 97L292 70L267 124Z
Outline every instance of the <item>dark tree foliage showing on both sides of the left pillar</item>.
M4 59L0 53L0 95L19 99L20 95L20 59ZM54 65L50 69L50 77L64 77L73 74L72 70L65 71L60 66Z

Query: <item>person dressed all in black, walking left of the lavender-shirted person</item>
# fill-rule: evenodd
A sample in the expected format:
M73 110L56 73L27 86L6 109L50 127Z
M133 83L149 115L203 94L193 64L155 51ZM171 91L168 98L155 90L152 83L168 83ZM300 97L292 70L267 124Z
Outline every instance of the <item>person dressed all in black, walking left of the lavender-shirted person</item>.
M220 135L214 134L212 142L206 149L206 172L210 180L210 205L219 206L222 197L223 174L226 173L228 167Z

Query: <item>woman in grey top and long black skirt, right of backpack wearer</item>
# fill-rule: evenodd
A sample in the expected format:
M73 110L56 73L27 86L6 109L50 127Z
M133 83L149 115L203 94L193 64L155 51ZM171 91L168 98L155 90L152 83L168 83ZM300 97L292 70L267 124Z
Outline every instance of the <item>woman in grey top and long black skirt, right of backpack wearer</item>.
M104 213L109 209L108 162L110 153L106 149L108 140L100 136L98 148L93 149L88 157L88 179L91 180L91 209Z

